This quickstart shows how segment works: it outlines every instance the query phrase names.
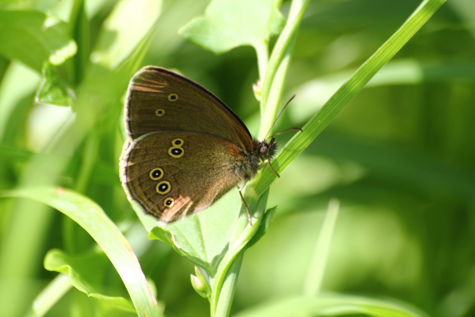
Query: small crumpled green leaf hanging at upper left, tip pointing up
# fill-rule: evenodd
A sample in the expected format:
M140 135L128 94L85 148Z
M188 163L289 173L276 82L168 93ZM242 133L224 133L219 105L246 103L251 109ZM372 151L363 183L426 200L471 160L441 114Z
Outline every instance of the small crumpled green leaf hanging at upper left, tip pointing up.
M71 106L74 92L62 82L56 69L45 61L41 71L41 83L36 91L35 102L57 106Z

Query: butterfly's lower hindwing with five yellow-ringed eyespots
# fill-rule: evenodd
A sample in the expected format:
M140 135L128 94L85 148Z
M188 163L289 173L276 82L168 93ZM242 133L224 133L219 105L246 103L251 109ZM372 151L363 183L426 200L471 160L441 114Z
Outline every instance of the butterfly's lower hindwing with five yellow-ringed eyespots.
M129 200L169 222L228 192L240 181L236 171L243 161L235 144L214 135L152 132L123 151L121 180Z

